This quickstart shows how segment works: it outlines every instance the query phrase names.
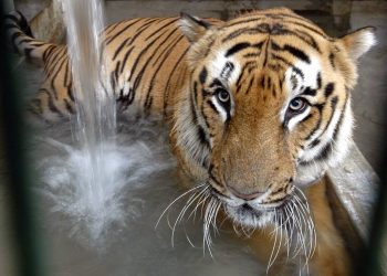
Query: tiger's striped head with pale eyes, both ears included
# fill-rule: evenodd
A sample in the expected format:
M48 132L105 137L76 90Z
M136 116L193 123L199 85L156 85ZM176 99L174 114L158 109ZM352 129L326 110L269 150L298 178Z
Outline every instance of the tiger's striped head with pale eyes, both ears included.
M182 14L180 29L190 49L177 145L234 222L272 222L348 150L349 92L374 29L333 39L287 9L216 24Z

